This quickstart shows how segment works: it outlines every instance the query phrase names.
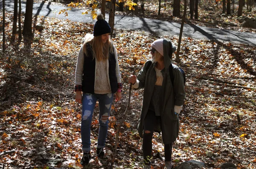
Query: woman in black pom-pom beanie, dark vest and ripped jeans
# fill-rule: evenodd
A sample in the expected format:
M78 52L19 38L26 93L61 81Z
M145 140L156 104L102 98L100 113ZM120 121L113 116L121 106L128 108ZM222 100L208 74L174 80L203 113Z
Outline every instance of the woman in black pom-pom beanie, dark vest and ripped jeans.
M108 117L114 95L121 99L122 83L116 48L109 34L111 28L103 15L97 16L93 34L86 34L77 58L75 73L76 102L82 104L81 140L83 157L81 165L89 164L90 125L96 101L99 101L99 136L96 154L104 157L108 134Z

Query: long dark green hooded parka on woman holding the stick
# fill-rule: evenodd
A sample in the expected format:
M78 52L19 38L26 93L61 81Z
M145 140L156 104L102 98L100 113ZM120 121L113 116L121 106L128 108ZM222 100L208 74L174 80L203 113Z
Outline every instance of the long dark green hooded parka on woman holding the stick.
M183 101L185 99L185 88L183 83L183 75L181 74L179 68L172 64L170 60L172 57L172 42L166 39L163 40L163 55L165 65L165 68L161 70L163 74L163 90L159 94L159 96L163 97L163 102L161 103L162 105L160 105L161 124L158 124L158 126L155 127L155 131L162 132L164 144L171 144L176 140L179 132L179 119L174 113L174 105L183 105ZM146 70L149 62L151 61L149 60L145 63L144 67L140 70L140 73L137 76L137 80L139 81L139 87L137 89L144 88L143 106L141 108L138 124L138 132L141 138L143 138L143 121L148 112L154 85L157 80L156 72L154 70L154 63L150 65L148 70ZM172 86L169 74L170 64L173 65L174 86Z

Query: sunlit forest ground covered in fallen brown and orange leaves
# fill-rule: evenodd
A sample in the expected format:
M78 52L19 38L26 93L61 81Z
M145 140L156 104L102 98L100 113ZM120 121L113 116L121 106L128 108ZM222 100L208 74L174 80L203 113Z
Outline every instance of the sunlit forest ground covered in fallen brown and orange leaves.
M0 13L1 19L3 14ZM81 105L73 93L76 57L86 33L93 25L37 17L45 29L35 33L32 49L8 45L0 57L0 167L81 168ZM11 32L12 13L6 16L6 32ZM35 18L33 20L35 22ZM109 168L119 121L125 118L119 134L114 168L141 169L141 139L137 120L143 90L131 94L128 104L128 76L138 73L150 59L151 34L115 29L113 42L122 73L122 100L112 106L106 144L107 160L96 158L98 105L92 122L93 160L88 168ZM10 38L9 33L7 33ZM178 37L172 39L177 45ZM16 42L15 42L16 44ZM175 56L173 56L173 60ZM202 161L217 168L232 162L239 169L256 168L256 47L183 37L180 65L186 72L186 101L180 114L180 135L174 143L173 165ZM238 116L241 122L238 122ZM163 144L154 135L154 153L163 156ZM208 157L208 152L213 156ZM164 162L153 158L153 167ZM2 166L1 166L2 165Z

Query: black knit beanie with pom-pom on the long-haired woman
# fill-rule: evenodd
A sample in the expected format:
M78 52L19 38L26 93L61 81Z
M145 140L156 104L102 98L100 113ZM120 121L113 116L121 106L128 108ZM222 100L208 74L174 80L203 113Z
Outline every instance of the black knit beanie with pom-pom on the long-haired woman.
M110 25L108 25L107 21L104 20L103 15L99 14L97 16L97 21L93 27L93 36L97 37L99 35L109 34L110 32Z

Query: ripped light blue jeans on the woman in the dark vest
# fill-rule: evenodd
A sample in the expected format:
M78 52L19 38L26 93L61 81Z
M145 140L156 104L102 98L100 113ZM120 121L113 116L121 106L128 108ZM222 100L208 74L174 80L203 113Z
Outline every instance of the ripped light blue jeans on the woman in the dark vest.
M84 93L82 100L81 139L82 150L90 151L90 126L96 101L99 100L99 135L97 148L104 148L108 134L108 117L113 102L113 93Z

